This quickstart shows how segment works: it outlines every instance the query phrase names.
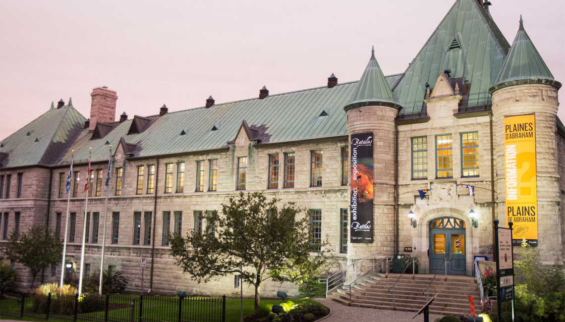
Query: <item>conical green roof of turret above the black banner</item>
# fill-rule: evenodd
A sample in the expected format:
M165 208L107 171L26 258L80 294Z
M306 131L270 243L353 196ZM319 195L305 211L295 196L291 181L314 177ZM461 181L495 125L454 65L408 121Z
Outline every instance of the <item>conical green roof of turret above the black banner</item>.
M396 103L394 95L390 90L388 82L385 80L383 71L379 63L375 59L375 47L371 50L371 59L363 72L363 76L355 86L351 101L344 110L349 108L367 105L390 105L400 109L401 107Z

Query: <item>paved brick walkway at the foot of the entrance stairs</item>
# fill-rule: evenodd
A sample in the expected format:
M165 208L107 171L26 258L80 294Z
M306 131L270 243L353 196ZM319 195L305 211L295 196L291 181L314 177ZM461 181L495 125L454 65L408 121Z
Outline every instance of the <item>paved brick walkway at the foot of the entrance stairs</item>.
M420 314L416 316L414 320L412 320L412 316L414 316L416 312L379 310L376 308L345 306L327 298L315 298L314 300L323 303L332 311L332 314L327 317L327 319L324 319L323 322L408 322L424 320L424 314ZM429 320L430 322L433 322L435 319L442 316L443 315L430 314Z

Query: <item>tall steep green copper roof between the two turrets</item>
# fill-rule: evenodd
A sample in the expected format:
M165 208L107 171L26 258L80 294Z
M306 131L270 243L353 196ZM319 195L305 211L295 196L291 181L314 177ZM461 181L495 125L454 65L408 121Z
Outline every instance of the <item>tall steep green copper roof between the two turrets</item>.
M425 83L433 86L445 69L450 69L451 78L461 78L461 83L470 85L468 106L490 105L488 89L494 84L509 48L479 2L457 0L393 89L398 104L403 106L400 114L421 112ZM459 88L461 85L464 84L459 84Z

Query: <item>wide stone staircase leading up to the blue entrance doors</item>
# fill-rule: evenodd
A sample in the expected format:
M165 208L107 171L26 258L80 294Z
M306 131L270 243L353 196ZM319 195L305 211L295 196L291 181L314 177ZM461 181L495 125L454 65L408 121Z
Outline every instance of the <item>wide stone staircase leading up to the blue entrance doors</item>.
M395 290L393 306L392 286L399 274L377 274L359 281L351 289L351 302L349 290L337 288L328 298L348 306L380 308L383 310L418 311L427 303L427 294L422 294L432 280L432 274L402 275ZM389 288L390 291L389 291ZM437 295L436 295L437 294ZM469 299L473 297L475 310L480 311L481 297L476 281L473 277L448 275L444 281L443 275L436 276L429 288L429 298L436 295L429 312L445 315L469 314Z

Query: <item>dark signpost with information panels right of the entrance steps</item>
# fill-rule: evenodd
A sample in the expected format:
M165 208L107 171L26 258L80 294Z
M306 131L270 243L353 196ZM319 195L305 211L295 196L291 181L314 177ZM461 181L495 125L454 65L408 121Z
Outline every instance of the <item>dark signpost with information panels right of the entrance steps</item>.
M502 302L512 301L512 320L514 320L514 256L512 255L512 221L509 228L498 227L498 219L494 219L494 236L497 245L496 281L498 321L502 321Z

